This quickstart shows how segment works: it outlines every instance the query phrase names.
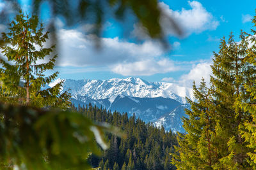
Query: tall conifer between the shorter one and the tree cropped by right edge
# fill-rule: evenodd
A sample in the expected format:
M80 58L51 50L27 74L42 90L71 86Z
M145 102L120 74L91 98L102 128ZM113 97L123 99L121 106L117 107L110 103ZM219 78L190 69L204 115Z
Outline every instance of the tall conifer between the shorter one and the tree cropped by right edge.
M244 113L237 104L241 97L246 101L248 95L243 87L247 78L244 73L251 71L244 59L247 55L248 41L241 32L241 41L234 41L230 34L228 42L221 39L220 52L214 53L211 78L214 86L213 96L216 104L216 147L220 162L216 169L244 169L248 167L246 143L241 138L241 125L250 115ZM240 99L239 99L240 98Z

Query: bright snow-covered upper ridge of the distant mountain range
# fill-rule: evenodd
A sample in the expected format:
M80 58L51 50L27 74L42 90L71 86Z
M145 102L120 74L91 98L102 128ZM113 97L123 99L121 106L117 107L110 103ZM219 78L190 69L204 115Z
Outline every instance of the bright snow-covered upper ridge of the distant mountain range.
M55 85L61 80L52 82L49 86ZM106 99L110 102L122 94L129 97L164 97L175 99L180 103L186 103L185 97L193 100L192 89L180 87L174 83L153 82L141 78L112 78L109 80L64 80L63 91L69 90L73 95L86 96L92 99Z

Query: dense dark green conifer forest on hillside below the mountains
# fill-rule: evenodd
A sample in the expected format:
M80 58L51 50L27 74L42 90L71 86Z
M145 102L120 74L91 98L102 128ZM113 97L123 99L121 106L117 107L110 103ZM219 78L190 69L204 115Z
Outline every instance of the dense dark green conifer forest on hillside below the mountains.
M90 159L93 167L102 167L108 161L109 169L114 169L115 164L120 169L164 169L164 167L175 169L170 165L169 154L173 152L173 145L177 144L172 132L165 132L163 128L157 129L152 124L145 124L135 116L128 118L127 113L112 114L92 104L86 107L80 106L77 110L94 122L107 122L126 134L125 138L106 134L109 149L102 151L102 158Z

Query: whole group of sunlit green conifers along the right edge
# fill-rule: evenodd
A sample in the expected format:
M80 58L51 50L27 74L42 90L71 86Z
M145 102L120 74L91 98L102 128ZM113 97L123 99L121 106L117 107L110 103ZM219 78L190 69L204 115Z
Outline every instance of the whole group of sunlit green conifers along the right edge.
M254 18L256 23L256 18ZM177 137L172 163L177 169L255 169L255 31L230 34L214 52L211 89L201 83L189 101L186 134ZM250 45L252 43L252 45Z

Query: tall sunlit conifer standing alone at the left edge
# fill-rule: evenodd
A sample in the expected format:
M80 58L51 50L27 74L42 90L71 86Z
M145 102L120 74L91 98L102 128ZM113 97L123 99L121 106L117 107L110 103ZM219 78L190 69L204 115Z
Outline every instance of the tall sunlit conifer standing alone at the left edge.
M54 68L57 55L52 56L54 45L44 47L49 32L44 33L38 17L29 17L20 11L8 29L8 33L2 33L5 44L1 50L8 61L0 60L1 99L38 107L67 108L70 105L70 94L60 94L62 82L42 90L42 87L58 76L58 72L50 76L44 74ZM49 62L39 63L39 60L50 56Z

